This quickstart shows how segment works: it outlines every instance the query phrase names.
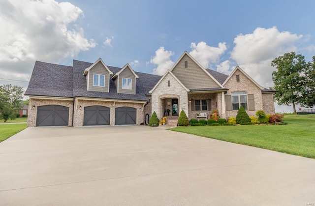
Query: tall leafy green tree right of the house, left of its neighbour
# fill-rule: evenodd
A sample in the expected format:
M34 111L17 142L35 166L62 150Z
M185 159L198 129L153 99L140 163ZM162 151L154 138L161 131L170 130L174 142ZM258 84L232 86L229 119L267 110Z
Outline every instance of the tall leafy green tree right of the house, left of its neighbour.
M293 105L293 113L296 113L295 103L303 103L303 93L305 93L306 76L305 71L308 63L303 55L294 52L286 53L271 62L276 67L272 72L272 80L277 90L275 99L279 105Z

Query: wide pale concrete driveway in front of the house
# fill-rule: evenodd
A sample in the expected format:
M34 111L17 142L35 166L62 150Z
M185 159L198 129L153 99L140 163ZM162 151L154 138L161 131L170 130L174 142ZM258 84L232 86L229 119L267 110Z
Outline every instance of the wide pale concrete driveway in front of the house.
M3 206L315 204L314 159L148 126L27 128L0 172Z

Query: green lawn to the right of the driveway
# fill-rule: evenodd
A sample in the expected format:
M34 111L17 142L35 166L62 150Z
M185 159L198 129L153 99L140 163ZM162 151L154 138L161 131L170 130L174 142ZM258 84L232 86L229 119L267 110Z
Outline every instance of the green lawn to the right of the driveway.
M286 125L189 126L170 130L315 158L315 115L286 115Z

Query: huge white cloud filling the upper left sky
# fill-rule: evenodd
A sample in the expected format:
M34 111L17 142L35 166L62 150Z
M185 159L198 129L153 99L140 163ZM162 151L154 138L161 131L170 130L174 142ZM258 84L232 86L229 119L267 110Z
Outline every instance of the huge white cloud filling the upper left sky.
M0 13L0 71L8 79L28 78L35 60L58 62L96 45L74 25L83 11L69 2L2 0Z

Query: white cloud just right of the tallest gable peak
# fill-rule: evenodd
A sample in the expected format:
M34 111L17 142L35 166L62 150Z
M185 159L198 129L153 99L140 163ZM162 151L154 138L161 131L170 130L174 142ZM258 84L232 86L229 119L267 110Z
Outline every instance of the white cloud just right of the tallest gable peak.
M218 47L211 47L206 42L190 44L191 51L189 54L196 59L204 68L209 67L209 63L217 63L226 48L225 42L220 42Z

